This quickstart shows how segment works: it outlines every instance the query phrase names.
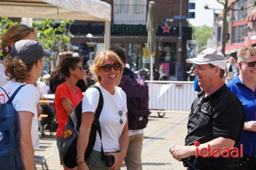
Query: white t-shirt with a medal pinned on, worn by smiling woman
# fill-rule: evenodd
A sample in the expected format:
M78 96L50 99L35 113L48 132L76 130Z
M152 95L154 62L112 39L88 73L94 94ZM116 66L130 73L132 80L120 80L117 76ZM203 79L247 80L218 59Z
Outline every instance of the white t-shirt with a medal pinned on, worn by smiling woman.
M120 150L119 138L122 134L123 127L126 123L127 105L126 94L120 87L115 87L115 94L110 94L99 83L96 83L100 87L103 95L103 108L99 117L99 123L102 134L102 147L104 152L116 152ZM82 99L82 113L94 112L98 106L99 91L96 88L89 88ZM119 115L119 111L122 111L122 115ZM119 123L122 119L122 125ZM100 151L101 143L100 137L97 132L96 141L93 150Z

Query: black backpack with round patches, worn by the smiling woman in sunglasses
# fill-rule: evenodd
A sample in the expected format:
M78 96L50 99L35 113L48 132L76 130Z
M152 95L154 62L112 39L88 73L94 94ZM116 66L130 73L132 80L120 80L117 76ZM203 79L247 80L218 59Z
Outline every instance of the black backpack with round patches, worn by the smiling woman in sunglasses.
M94 87L99 90L99 103L95 111L95 116L94 116L94 120L91 127L87 149L86 149L86 152L84 153L84 160L87 160L87 158L90 156L93 150L94 143L96 140L97 130L101 137L99 116L103 107L103 96L98 86L93 85L91 87ZM77 105L77 107L71 113L61 136L61 145L60 145L60 150L62 155L61 160L69 168L74 168L77 166L77 162L76 162L77 139L79 134L79 128L81 125L81 113L82 113L82 101ZM102 154L103 154L103 148L101 143L101 157L104 156Z

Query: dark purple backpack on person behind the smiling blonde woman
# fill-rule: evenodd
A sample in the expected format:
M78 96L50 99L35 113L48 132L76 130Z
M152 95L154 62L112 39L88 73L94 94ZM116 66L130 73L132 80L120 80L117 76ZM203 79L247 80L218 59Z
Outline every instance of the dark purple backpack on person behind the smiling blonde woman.
M128 127L130 130L144 129L148 122L148 87L139 74L131 78L123 75L119 87L126 94Z

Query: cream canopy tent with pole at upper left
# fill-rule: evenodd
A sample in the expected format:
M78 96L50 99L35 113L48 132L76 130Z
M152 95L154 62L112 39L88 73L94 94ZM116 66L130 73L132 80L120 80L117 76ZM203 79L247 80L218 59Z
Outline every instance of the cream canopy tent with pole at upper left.
M0 16L103 21L110 47L111 5L98 0L0 0Z

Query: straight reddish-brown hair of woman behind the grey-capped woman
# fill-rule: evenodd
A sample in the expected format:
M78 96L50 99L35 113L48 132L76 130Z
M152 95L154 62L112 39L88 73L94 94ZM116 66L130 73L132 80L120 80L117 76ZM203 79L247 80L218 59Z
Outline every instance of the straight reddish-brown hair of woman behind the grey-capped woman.
M23 24L13 25L7 29L2 38L2 53L4 56L7 56L6 46L10 47L12 42L21 40L23 37L26 37L30 33L33 33L35 37L36 31L32 27L28 27Z

